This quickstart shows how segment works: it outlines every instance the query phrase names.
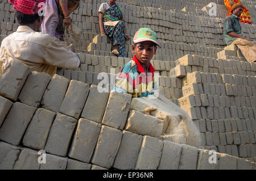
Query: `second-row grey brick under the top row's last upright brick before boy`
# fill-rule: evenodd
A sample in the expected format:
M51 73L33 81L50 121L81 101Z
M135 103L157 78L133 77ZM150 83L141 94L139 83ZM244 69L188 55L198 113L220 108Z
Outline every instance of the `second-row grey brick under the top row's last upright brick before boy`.
M98 142L90 162L107 169L112 167L121 143L121 138L121 131L102 125Z

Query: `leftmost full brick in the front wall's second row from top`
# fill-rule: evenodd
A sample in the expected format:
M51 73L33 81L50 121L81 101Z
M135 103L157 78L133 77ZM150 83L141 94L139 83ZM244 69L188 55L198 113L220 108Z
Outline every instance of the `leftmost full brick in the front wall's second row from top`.
M16 102L0 128L0 139L18 146L36 108Z

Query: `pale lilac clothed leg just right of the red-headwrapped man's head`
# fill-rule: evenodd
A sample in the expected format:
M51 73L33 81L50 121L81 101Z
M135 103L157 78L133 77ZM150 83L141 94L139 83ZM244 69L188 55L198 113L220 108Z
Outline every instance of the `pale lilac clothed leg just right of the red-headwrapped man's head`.
M46 1L46 16L42 22L42 32L55 36L56 28L59 23L58 8L55 0Z

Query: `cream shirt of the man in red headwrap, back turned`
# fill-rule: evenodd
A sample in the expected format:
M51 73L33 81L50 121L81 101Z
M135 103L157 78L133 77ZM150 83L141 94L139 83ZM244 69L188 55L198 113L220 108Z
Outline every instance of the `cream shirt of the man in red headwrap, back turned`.
M57 67L77 69L80 59L70 52L67 45L55 37L35 32L28 26L19 26L17 31L2 41L0 48L0 76L12 60L19 60L32 71L44 72L51 77Z

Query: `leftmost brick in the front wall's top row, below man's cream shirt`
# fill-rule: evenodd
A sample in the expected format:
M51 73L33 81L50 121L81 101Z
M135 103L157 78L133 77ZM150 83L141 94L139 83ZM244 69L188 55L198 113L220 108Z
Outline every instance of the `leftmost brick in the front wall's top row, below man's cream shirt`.
M27 65L18 60L11 61L0 77L0 95L16 101L30 73Z

